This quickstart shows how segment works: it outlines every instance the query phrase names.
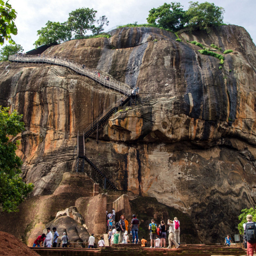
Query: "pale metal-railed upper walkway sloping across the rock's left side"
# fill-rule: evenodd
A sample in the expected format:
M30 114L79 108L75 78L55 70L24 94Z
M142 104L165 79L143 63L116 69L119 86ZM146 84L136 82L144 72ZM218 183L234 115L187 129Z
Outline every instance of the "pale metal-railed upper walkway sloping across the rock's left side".
M102 76L97 69L85 67L84 65L78 64L75 61L61 58L58 56L42 56L36 55L25 55L15 54L9 56L9 61L22 61L22 62L35 62L35 63L50 63L55 65L61 65L73 69L76 73L87 76L96 82L99 82L104 87L109 87L116 91L119 91L125 95L131 95L132 88L124 82L118 82L117 80L108 76Z

